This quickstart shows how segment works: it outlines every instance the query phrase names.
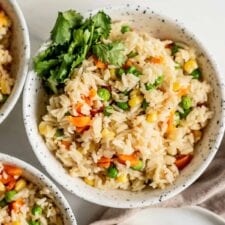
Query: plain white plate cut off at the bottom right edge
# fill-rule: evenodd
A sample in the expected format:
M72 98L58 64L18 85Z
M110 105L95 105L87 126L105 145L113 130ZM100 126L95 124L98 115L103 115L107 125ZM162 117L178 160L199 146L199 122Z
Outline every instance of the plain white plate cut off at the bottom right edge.
M162 216L163 215L163 216ZM216 214L200 207L180 209L145 209L118 225L225 225Z

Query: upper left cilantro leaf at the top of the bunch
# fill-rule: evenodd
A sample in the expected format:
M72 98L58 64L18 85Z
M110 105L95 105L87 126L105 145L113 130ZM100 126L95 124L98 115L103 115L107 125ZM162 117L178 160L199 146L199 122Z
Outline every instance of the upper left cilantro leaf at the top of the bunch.
M73 10L59 12L55 26L51 31L51 39L54 43L63 45L71 39L71 29L78 27L83 17Z

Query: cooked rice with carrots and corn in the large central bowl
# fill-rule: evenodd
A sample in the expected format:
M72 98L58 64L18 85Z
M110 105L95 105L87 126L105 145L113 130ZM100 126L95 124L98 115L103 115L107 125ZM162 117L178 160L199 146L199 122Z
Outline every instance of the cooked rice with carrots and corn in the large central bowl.
M74 70L64 93L50 97L39 130L68 173L91 186L132 191L165 188L194 157L195 143L212 117L207 104L211 88L191 75L199 67L194 49L180 44L172 55L172 41L136 30L123 34L122 24L113 24L107 42L120 40L127 55L137 53L129 63L141 75L127 73L119 79L118 68L99 69L89 57ZM159 76L163 81L147 90L146 85ZM108 102L93 94L102 87L111 92ZM175 115L184 113L184 96L191 99L191 109L175 124ZM129 109L122 110L115 102L128 102ZM109 104L113 109L105 116L103 109ZM82 116L90 119L83 129L73 123L73 118ZM135 160L141 161L140 168L135 168ZM109 171L109 166L114 170Z

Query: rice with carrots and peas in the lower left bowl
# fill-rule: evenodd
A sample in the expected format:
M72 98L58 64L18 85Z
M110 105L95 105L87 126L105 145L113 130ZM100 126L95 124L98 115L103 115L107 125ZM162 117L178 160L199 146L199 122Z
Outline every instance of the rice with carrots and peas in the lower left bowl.
M46 187L23 177L20 168L0 163L0 224L62 225L62 215Z

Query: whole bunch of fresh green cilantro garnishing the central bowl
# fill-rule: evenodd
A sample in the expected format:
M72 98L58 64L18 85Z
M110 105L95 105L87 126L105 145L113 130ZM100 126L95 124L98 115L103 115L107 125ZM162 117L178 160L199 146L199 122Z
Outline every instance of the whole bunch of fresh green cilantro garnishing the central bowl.
M59 12L49 47L34 58L34 69L45 87L58 93L74 68L89 54L94 53L106 63L122 65L125 60L123 45L102 42L109 37L110 31L111 18L103 11L86 20L74 10Z

